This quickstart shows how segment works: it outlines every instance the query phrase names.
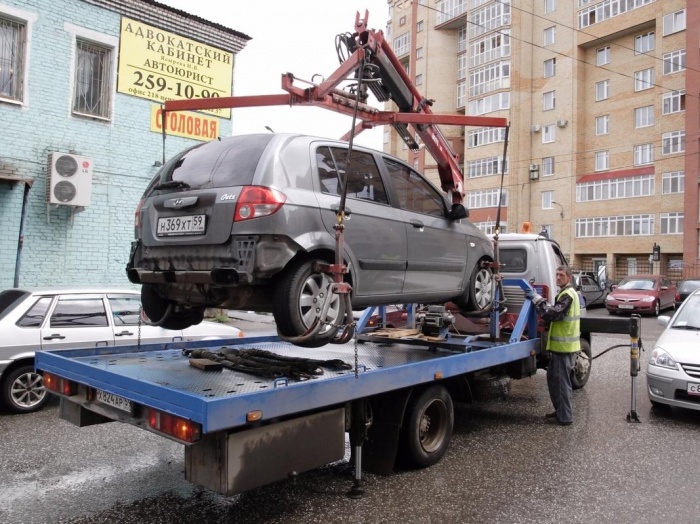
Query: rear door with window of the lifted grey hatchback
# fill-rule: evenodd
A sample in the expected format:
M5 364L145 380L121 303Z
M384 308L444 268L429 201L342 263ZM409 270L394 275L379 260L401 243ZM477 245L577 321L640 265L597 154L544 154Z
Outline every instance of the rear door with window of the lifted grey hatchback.
M401 211L389 205L374 156L321 146L316 150L319 191L316 191L326 230L335 236L336 211L347 176L343 240L354 257L356 296L401 293L407 264L406 228Z

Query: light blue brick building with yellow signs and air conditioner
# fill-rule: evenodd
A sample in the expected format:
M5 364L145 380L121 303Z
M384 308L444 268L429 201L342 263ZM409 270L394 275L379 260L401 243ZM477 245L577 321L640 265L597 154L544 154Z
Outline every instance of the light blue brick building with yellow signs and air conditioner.
M163 158L231 134L250 37L152 0L0 0L0 289L129 285L134 211ZM165 145L164 145L165 144Z

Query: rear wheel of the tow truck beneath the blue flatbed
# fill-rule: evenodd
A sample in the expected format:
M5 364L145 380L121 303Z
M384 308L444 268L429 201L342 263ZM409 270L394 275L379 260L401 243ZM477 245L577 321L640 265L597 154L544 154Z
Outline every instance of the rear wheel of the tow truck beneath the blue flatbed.
M406 407L403 451L408 463L426 468L447 451L454 426L452 397L443 386L414 391Z

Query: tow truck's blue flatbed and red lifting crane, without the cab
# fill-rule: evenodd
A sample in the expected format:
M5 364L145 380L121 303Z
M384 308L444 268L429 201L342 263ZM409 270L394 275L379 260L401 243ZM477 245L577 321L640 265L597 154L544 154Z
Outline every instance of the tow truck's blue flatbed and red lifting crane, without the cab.
M507 123L433 114L383 33L367 29L367 17L358 13L354 32L342 37L349 57L321 84L302 89L285 74L287 94L169 101L164 113L316 105L359 115L353 131L392 125L417 148L411 126L435 157L442 188L459 209L464 188L458 156L436 124ZM350 77L354 92L339 89ZM399 110L367 106L366 86ZM329 270L340 278L334 291L349 293L342 287L342 260ZM530 287L524 280L504 284ZM450 332L449 314L437 306L411 336L353 332L315 349L270 336L46 351L37 353L36 367L45 387L60 397L61 418L80 427L128 423L182 443L186 479L224 495L342 460L349 434L354 474L348 495L359 498L363 471L389 474L398 461L427 467L442 458L452 434L453 404L474 400L480 373L519 379L537 372L542 344L531 302L523 303L505 334L498 314L495 307L488 333Z

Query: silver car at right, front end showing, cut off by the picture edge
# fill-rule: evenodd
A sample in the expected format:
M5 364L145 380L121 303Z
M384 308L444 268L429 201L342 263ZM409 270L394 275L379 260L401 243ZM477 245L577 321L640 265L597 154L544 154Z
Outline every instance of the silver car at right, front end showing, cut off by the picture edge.
M700 290L676 314L659 317L666 326L647 365L647 393L653 405L700 410Z

